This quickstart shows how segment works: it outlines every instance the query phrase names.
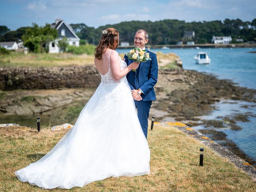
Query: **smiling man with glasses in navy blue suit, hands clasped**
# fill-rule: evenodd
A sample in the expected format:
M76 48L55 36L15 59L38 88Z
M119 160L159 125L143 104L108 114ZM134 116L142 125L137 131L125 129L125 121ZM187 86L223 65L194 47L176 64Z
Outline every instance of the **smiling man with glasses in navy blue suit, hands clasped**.
M134 45L146 50L146 43L148 43L148 33L143 29L138 30L134 36ZM146 50L146 52L149 53L151 60L141 62L139 67L136 69L136 72L131 70L126 77L132 90L132 97L134 98L135 106L138 110L140 125L145 137L147 138L149 110L152 101L156 100L154 86L157 82L158 64L156 54L148 50ZM129 60L127 56L124 56L124 58L127 65L134 62L134 60Z

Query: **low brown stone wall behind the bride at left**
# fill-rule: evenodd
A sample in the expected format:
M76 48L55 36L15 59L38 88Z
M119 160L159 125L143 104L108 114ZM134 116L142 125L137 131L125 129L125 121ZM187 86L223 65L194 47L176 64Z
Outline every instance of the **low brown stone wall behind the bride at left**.
M0 90L96 88L100 74L95 66L0 68Z

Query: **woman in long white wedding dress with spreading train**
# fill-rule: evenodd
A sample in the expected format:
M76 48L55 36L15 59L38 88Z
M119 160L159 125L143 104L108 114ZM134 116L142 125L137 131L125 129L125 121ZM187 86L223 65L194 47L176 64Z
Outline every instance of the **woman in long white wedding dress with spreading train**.
M100 85L56 146L15 172L20 181L45 189L70 189L111 176L150 173L148 142L126 80L138 63L126 65L115 51L118 42L116 29L103 30L95 54Z

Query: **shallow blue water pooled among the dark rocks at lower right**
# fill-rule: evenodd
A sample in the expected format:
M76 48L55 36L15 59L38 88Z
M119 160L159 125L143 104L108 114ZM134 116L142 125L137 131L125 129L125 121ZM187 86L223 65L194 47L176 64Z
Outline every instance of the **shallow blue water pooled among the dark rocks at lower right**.
M230 128L214 128L227 134L228 139L236 143L248 156L256 160L256 105L255 103L233 100L222 100L214 105L214 110L210 115L200 116L203 120L222 120L224 116L234 116L234 114L248 114L249 122L236 122L242 127L241 130L230 130ZM252 116L250 116L252 115ZM194 126L195 130L207 129L204 126ZM218 141L216 141L218 142Z

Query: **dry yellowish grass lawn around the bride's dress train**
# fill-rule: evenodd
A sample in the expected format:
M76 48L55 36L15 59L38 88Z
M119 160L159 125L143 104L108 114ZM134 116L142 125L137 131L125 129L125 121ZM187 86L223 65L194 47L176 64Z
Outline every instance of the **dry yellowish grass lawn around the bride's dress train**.
M0 191L48 191L20 182L14 172L39 160L66 130L26 127L0 128ZM108 178L70 191L256 191L256 182L228 160L173 126L155 124L148 131L151 173L145 176ZM204 147L204 166L199 148ZM49 191L68 191L53 189Z

